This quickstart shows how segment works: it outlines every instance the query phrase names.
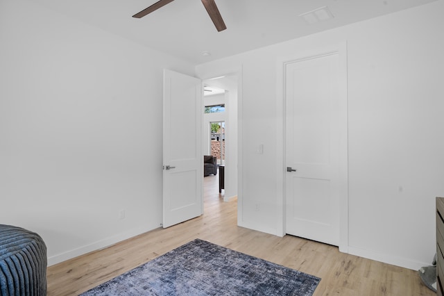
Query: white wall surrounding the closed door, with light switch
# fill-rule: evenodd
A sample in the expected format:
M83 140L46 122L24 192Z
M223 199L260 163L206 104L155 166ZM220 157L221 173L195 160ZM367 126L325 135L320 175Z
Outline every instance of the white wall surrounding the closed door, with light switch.
M434 201L444 195L441 11L439 0L196 67L200 76L242 68L239 225L282 227L277 61L346 41L348 251L413 269L431 263Z

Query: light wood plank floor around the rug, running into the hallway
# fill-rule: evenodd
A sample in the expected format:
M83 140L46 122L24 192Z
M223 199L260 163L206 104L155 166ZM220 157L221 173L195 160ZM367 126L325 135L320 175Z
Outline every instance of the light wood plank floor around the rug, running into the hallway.
M314 295L436 295L416 271L343 254L337 247L303 238L237 227L237 201L223 202L217 177L204 178L204 215L50 266L48 295L78 295L194 238L321 277Z

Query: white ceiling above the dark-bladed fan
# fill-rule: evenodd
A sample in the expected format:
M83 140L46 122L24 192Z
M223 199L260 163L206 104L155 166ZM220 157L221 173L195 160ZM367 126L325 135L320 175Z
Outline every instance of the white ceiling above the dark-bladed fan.
M176 0L142 19L132 15L157 0L32 1L200 64L436 0L216 0L227 26L221 32L200 0ZM308 25L298 16L323 6L333 19ZM203 56L203 51L211 55Z

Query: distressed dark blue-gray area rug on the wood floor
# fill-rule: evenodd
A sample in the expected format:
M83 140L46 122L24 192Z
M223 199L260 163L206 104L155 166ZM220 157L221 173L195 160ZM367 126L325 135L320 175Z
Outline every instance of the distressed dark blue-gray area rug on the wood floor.
M81 296L309 296L319 281L310 274L196 239Z

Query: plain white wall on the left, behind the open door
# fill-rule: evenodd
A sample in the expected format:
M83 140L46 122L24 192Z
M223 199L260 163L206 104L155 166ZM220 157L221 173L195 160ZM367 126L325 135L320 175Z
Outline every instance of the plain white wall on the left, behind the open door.
M162 69L194 67L32 1L0 1L0 42L0 223L50 265L159 227Z

